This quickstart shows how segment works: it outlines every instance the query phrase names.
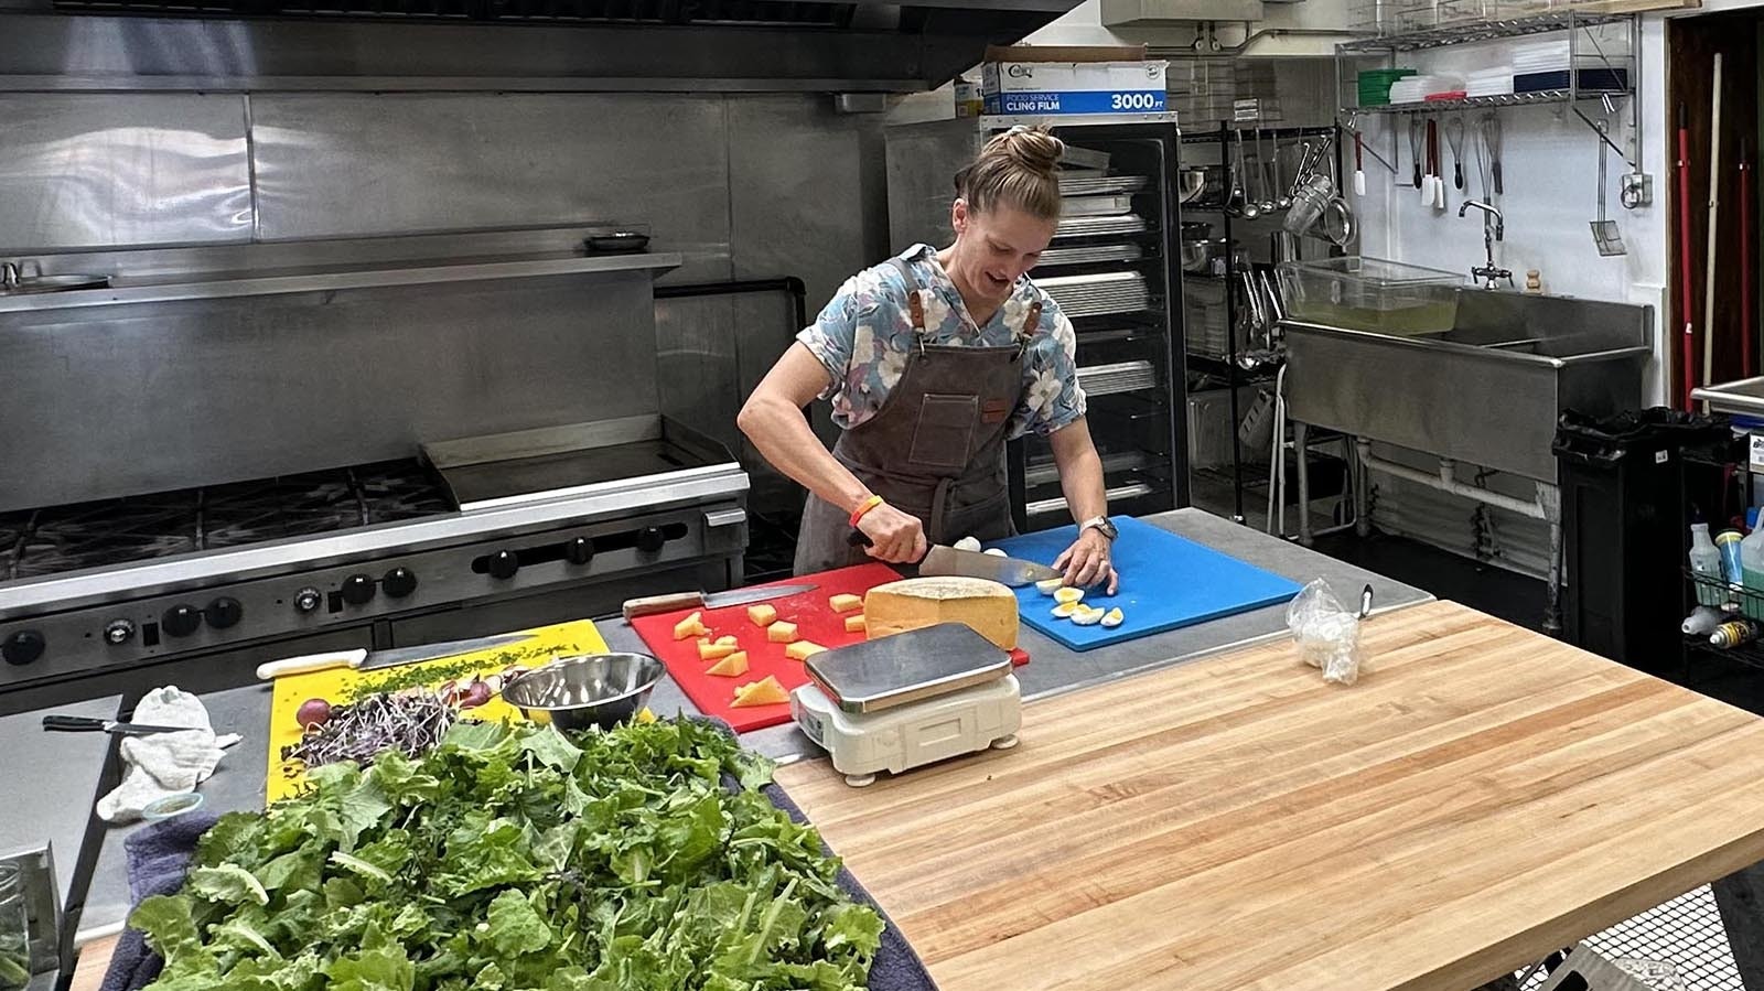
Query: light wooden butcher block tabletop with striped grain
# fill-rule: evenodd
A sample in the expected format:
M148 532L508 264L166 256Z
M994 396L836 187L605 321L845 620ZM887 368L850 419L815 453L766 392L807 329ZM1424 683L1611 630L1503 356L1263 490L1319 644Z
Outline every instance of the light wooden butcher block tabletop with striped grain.
M1459 991L1764 859L1764 719L1455 603L778 772L942 991Z

